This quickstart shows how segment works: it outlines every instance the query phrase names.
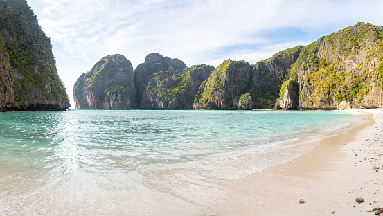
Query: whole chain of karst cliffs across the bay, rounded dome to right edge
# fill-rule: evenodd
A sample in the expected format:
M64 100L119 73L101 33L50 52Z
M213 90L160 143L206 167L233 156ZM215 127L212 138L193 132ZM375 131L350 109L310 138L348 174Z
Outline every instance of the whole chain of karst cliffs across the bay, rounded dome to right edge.
M250 65L188 68L158 53L133 71L103 57L73 87L76 109L360 109L382 107L383 28L357 23Z

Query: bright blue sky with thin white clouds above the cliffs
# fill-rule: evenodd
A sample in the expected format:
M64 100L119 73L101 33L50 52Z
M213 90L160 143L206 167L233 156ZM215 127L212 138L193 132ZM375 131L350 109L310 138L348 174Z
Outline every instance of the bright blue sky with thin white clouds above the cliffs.
M98 60L121 54L135 69L150 53L187 66L255 64L359 21L383 26L383 1L27 0L53 44L75 109L73 85Z

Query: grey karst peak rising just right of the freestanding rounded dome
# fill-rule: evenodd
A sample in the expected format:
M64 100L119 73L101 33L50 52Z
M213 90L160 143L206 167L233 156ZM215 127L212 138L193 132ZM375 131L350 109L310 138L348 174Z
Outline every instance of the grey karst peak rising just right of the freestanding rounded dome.
M156 80L152 80L154 77L156 77L157 80L165 80L172 77L175 73L180 73L185 68L186 64L181 60L163 57L158 53L147 55L145 62L139 64L134 70L138 107L142 109L162 108L163 106L161 104L151 105L152 102L148 101L147 97L149 93L146 89L152 89L155 85L157 86ZM144 94L145 98L143 98Z

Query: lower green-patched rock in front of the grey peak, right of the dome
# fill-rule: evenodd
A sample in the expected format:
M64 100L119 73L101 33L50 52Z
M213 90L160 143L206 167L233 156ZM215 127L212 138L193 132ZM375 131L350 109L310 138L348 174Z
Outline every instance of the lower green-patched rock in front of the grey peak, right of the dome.
M143 109L193 109L195 94L199 86L213 71L209 65L195 65L172 76L161 72L149 80L143 92L141 108Z

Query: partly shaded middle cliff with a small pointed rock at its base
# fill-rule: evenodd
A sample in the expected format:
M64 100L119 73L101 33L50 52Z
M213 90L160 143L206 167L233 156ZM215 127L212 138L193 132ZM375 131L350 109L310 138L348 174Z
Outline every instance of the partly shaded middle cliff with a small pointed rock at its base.
M253 66L248 62L225 60L201 86L194 108L273 108L280 86L302 48L280 51Z

